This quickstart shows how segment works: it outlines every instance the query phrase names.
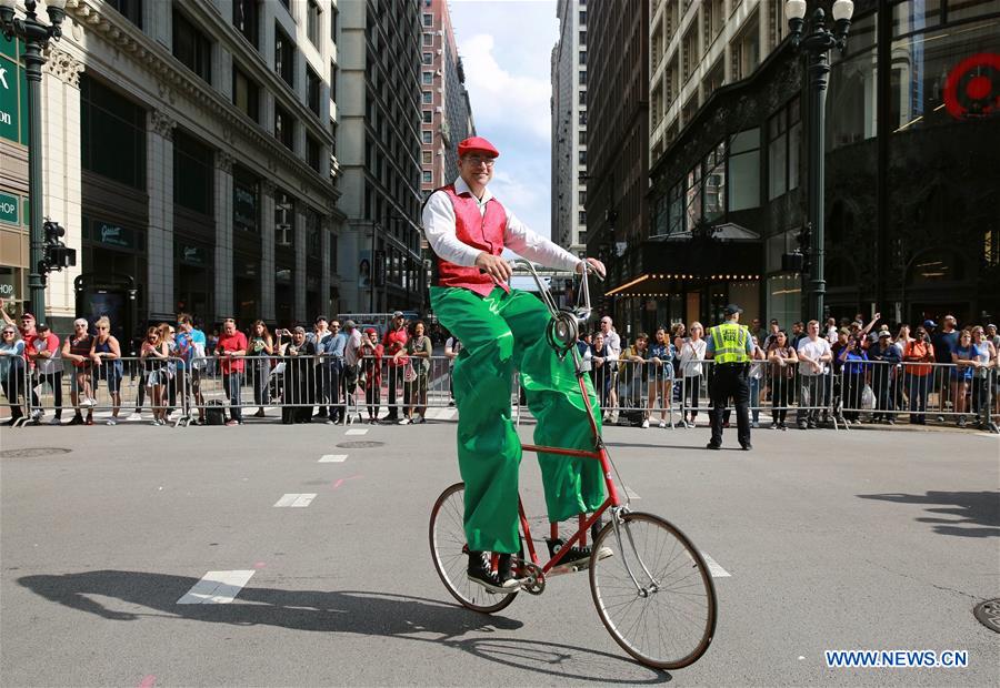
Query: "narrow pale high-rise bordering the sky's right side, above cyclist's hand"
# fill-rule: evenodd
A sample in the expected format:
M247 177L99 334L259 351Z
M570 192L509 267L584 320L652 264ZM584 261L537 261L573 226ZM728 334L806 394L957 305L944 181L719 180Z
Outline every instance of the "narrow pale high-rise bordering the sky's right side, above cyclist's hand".
M587 251L587 0L559 0L552 49L552 241Z

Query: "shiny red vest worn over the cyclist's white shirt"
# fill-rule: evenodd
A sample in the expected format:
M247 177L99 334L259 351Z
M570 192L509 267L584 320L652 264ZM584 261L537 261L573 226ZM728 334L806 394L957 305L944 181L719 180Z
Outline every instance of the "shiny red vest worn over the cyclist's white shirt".
M468 246L500 255L503 251L503 234L507 232L507 211L497 199L487 202L486 213L479 214L479 203L471 193L459 195L454 184L442 186L454 209L454 232L458 240ZM464 267L443 259L438 259L438 285L459 286L486 296L497 284L486 273L479 272L474 265ZM506 284L500 285L510 292Z

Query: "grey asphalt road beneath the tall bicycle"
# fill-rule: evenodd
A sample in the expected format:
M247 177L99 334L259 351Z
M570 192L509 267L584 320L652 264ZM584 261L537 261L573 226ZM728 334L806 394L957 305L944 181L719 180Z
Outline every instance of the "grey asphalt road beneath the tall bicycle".
M71 452L0 458L0 682L1000 681L1000 636L972 616L1000 597L998 436L757 431L743 453L707 452L707 435L606 432L633 509L674 523L729 574L714 580L708 652L663 672L613 643L584 574L491 617L450 601L427 526L458 479L452 423L363 436L326 425L4 428L4 453ZM384 444L337 446L353 441ZM724 443L736 446L734 431ZM538 476L527 458L534 510ZM316 497L274 506L296 494ZM252 575L232 603L178 604L208 571L234 570ZM828 649L958 649L969 666L832 669Z

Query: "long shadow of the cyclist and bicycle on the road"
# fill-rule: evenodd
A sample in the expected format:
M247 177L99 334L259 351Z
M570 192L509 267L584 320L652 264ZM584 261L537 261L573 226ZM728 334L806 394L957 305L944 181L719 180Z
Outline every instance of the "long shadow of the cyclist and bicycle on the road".
M670 675L631 658L581 647L466 634L513 631L522 621L476 614L458 605L391 593L362 590L281 590L244 587L228 605L178 605L197 578L123 570L23 576L18 583L56 604L112 621L177 618L274 626L291 630L348 633L444 645L490 661L560 678L596 684L660 684ZM128 611L104 606L118 599ZM151 611L150 611L151 610ZM430 637L428 636L430 634Z

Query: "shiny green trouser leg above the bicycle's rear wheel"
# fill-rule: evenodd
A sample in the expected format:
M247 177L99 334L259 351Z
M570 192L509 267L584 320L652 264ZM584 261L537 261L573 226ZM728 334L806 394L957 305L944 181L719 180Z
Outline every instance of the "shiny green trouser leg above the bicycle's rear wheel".
M521 443L511 422L514 340L498 315L502 290L482 299L468 290L431 287L438 320L462 342L456 360L458 459L466 483L470 549L516 553Z

